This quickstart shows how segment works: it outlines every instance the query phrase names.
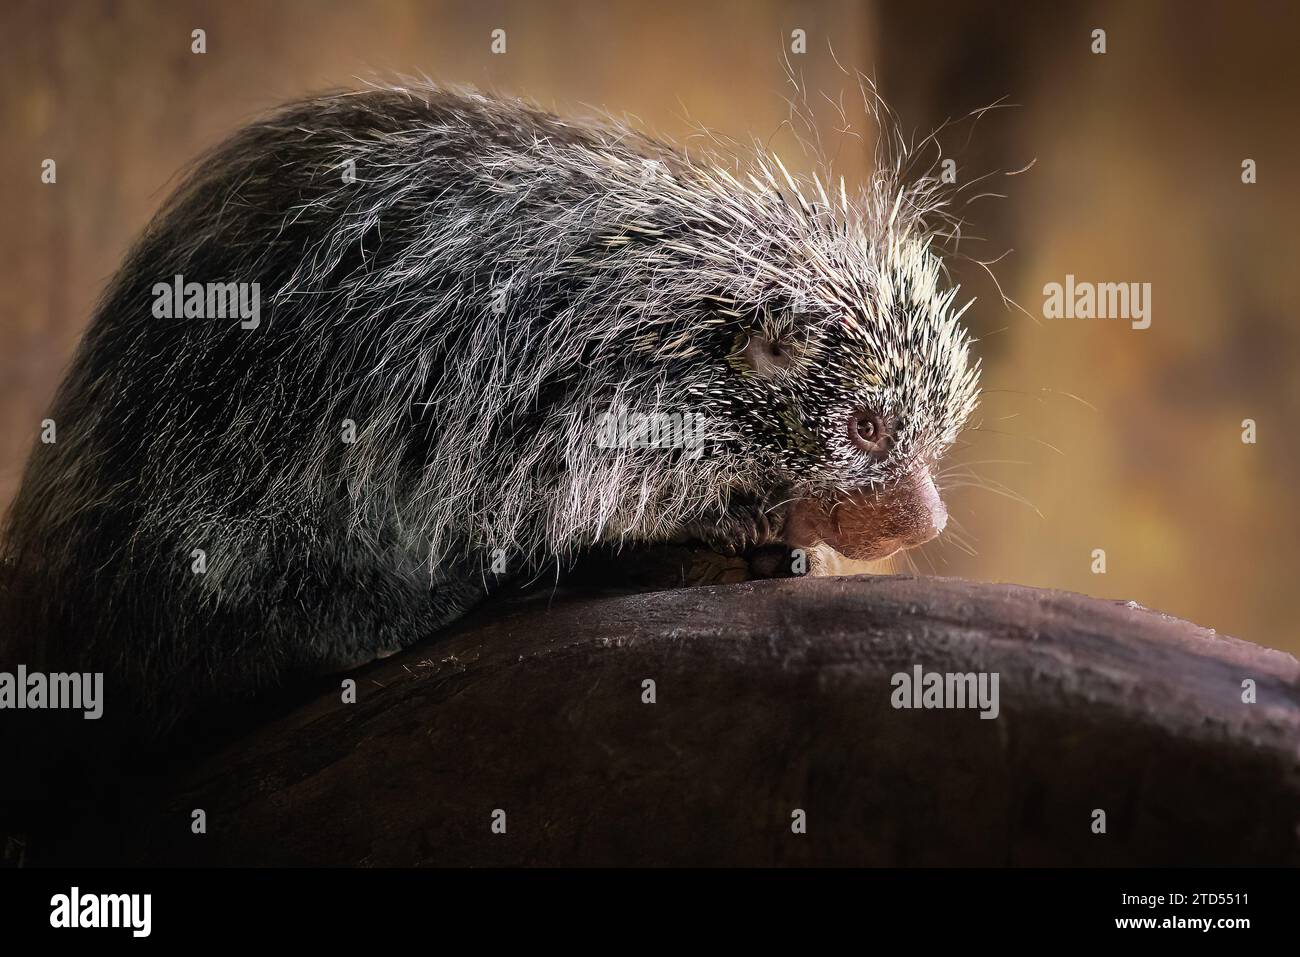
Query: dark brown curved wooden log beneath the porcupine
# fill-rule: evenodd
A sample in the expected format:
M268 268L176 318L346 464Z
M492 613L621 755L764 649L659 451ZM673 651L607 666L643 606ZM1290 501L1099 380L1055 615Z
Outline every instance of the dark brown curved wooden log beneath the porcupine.
M997 672L998 716L893 707L916 664ZM355 677L356 703L142 793L130 861L1300 863L1300 664L1134 603L911 577L538 593Z

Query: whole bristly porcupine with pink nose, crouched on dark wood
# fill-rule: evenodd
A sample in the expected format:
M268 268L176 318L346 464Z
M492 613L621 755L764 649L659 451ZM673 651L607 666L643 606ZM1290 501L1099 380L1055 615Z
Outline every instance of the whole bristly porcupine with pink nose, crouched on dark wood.
M927 541L979 376L930 196L434 87L252 124L148 226L55 399L5 659L103 670L165 724L430 635L494 558ZM159 317L177 277L257 283L259 321ZM699 415L708 454L606 447L615 408Z

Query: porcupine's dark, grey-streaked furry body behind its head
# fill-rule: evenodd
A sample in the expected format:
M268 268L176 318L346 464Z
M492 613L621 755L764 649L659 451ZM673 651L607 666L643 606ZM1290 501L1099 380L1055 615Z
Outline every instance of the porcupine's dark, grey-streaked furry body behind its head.
M430 633L478 596L489 545L519 566L563 549L582 523L537 499L564 494L547 411L654 387L582 376L627 329L580 268L627 215L611 182L654 152L376 90L205 156L112 281L29 464L5 658L103 668L176 710ZM156 319L176 276L257 282L260 326Z

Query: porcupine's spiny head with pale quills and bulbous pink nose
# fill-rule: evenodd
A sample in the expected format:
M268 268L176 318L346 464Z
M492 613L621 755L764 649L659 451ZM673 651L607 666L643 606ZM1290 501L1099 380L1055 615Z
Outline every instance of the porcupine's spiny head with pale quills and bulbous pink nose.
M675 191L676 229L633 224L611 242L653 235L679 268L650 298L701 303L636 342L667 369L664 407L705 421L712 454L696 467L720 501L699 537L857 560L936 537L933 471L976 404L979 363L924 225L932 195L885 174L828 195L770 155L742 177L666 178L666 205Z

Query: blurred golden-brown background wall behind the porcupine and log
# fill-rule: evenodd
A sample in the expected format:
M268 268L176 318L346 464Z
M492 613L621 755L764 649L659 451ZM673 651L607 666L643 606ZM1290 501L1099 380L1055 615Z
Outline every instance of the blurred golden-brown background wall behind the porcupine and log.
M783 52L850 182L875 75L907 130L1005 98L942 138L959 179L994 169L1008 199L966 211L979 267L985 397L954 463L952 512L975 554L927 547L920 571L1048 585L1144 605L1300 650L1300 377L1296 321L1296 34L1286 3L13 3L0 12L0 503L6 503L96 295L204 147L276 103L358 77L425 73L606 109L681 139L702 125L783 130ZM190 52L191 30L208 52ZM491 30L507 52L491 55ZM1091 52L1106 30L1108 52ZM836 133L845 95L859 137ZM967 144L968 139L968 144ZM40 182L57 160L56 185ZM1258 183L1240 181L1242 160ZM1150 282L1153 321L1045 321L1066 273ZM1258 443L1240 441L1243 419ZM996 485L994 485L996 484ZM1105 549L1108 572L1092 573Z

